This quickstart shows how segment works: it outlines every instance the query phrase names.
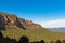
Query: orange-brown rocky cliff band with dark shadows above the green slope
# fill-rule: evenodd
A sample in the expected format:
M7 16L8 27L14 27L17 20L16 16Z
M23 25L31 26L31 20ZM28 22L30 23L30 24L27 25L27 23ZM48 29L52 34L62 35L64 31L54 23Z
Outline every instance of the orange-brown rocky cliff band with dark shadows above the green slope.
M40 25L34 24L31 20L18 18L16 15L13 14L0 13L0 27L5 27L5 26L20 27L23 29L41 28Z

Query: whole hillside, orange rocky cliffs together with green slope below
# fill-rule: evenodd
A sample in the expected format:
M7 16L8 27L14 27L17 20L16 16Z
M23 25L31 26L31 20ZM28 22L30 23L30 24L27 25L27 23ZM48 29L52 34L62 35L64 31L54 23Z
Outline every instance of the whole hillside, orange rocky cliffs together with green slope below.
M2 26L1 32L4 37L16 39L17 41L22 35L26 35L30 41L44 40L47 42L54 40L64 40L65 33L52 32L41 27L38 24L34 24L31 20L18 18L16 15L0 13L0 25Z

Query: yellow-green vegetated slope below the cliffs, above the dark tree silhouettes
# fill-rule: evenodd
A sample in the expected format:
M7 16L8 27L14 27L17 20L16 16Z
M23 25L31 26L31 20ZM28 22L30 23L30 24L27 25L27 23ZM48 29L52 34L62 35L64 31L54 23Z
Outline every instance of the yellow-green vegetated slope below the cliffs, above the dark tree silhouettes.
M47 29L21 29L18 27L6 27L6 31L1 31L4 37L9 37L11 39L16 39L17 41L22 35L26 35L30 41L40 41L44 40L47 42L64 40L65 33L52 32Z

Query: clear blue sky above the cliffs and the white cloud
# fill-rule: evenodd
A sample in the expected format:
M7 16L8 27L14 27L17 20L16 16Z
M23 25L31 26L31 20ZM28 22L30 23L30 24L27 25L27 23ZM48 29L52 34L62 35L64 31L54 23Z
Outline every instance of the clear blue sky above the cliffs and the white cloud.
M0 12L34 22L65 19L65 0L0 0Z

